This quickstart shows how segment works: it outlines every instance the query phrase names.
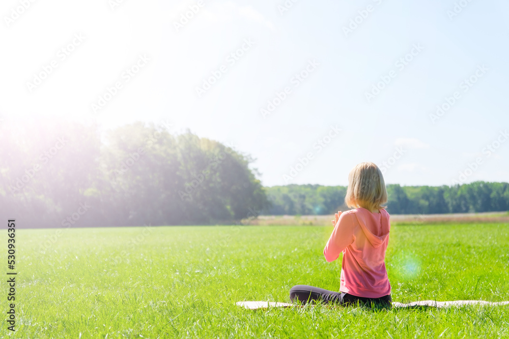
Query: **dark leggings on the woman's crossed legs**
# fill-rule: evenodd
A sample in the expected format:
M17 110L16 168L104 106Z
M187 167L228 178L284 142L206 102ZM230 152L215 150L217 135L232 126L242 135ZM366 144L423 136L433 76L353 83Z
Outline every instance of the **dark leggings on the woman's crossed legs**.
M322 301L323 303L336 303L345 306L356 304L357 301L359 301L360 304L367 304L369 306L371 306L372 303L379 306L390 306L392 302L390 294L380 298L364 298L308 285L295 285L292 287L290 290L290 300L292 300L292 302L294 300L300 300L302 304L313 304L317 301Z

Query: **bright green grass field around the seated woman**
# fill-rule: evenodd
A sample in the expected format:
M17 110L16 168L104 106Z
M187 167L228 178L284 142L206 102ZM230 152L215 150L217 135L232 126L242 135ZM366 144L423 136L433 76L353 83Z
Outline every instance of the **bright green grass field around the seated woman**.
M3 320L0 333L19 338L509 336L509 306L373 312L322 305L248 311L235 305L289 302L296 284L338 290L341 261L327 263L322 255L331 231L140 227L64 229L55 237L54 229L18 230L17 330L10 333ZM393 226L386 256L393 301L509 300L508 248L508 224ZM5 291L6 284L4 318Z

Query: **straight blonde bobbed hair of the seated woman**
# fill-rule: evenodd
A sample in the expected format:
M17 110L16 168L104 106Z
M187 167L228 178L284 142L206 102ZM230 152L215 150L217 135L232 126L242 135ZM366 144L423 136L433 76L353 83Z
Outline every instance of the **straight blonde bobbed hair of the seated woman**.
M369 211L386 208L387 189L382 171L374 163L360 163L348 174L345 204L350 208L363 207Z

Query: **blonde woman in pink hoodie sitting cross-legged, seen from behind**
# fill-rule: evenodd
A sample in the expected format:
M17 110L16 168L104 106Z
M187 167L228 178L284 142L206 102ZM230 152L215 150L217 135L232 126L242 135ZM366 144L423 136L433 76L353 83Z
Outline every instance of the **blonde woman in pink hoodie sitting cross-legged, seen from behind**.
M340 292L295 285L290 290L290 300L390 305L390 284L385 269L390 231L386 203L382 171L371 162L356 165L348 174L345 195L345 204L354 209L335 213L331 220L334 230L323 249L328 262L343 252Z

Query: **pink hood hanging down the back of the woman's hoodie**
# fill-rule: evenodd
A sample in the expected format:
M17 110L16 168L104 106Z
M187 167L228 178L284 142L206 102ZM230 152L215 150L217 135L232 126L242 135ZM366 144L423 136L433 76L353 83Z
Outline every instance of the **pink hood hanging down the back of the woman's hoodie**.
M389 213L383 208L380 209L380 213L372 213L361 207L357 208L354 214L367 240L373 247L380 247L389 235Z

